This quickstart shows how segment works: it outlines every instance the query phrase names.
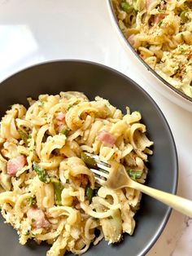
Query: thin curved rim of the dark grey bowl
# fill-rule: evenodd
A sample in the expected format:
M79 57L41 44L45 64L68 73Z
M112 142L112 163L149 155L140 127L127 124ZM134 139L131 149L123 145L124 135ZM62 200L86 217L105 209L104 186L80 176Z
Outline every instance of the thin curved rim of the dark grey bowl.
M172 181L172 194L176 194L177 193L177 187L178 187L178 174L179 174L179 170L178 170L177 147L176 147L176 143L175 143L174 137L172 135L172 130L171 130L170 126L168 125L167 119L164 117L164 113L161 111L161 109L159 108L158 104L155 103L155 100L151 97L151 95L149 95L146 92L146 90L144 90L142 88L142 86L139 86L137 84L137 82L134 82L133 79L131 79L130 77L128 77L124 73L121 73L120 71L116 70L115 68L111 68L111 67L109 67L109 66L107 66L105 64L100 64L98 62L94 62L94 61L90 61L90 60L77 60L77 59L46 60L46 61L39 62L37 64L28 65L25 68L20 68L20 70L15 71L11 75L8 75L5 79L3 79L2 82L0 82L0 86L2 85L2 83L7 82L12 77L14 77L14 76L16 76L16 75L18 75L20 73L23 73L23 72L27 71L28 69L37 68L38 66L45 65L45 64L56 64L56 63L59 63L59 62L61 62L61 63L62 62L66 62L66 63L70 63L71 62L71 63L76 63L76 64L89 64L89 65L96 66L98 68L107 69L107 71L110 71L112 73L116 73L118 76L124 77L124 79L126 79L128 82L133 83L133 85L136 86L139 90L142 90L142 93L146 96L147 99L149 99L151 104L154 104L157 112L159 113L160 118L164 121L165 125L168 128L168 133L170 135L170 139L172 139L172 152L174 154L173 161L174 161L174 167L175 167L173 169L174 170L174 179ZM155 236L153 236L151 241L146 245L145 248L142 249L140 254L137 254L137 256L145 256L146 253L151 249L151 247L153 245L155 245L155 242L158 240L159 236L164 231L164 227L168 223L168 219L169 219L171 213L172 213L172 208L168 206L167 210L165 211L164 218L163 218L162 222L160 223L157 231L155 232Z

